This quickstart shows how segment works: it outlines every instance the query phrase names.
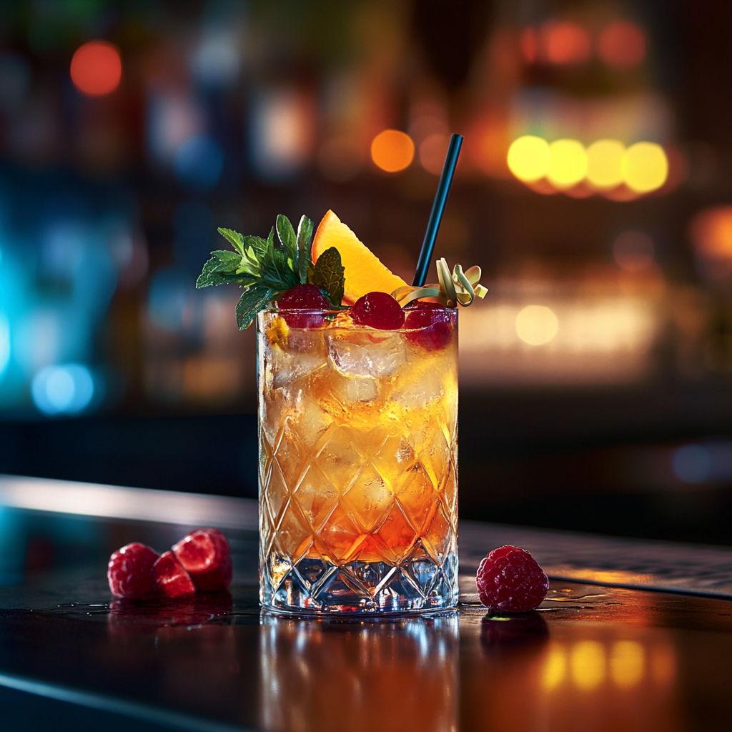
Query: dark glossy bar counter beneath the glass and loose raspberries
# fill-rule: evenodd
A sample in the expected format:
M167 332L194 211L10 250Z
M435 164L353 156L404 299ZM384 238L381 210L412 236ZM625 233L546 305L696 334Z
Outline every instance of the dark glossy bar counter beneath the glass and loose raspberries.
M112 550L217 526L231 593L113 600ZM460 527L458 610L262 612L254 501L0 476L4 730L702 731L732 718L732 550ZM541 607L490 615L474 573L523 546Z

